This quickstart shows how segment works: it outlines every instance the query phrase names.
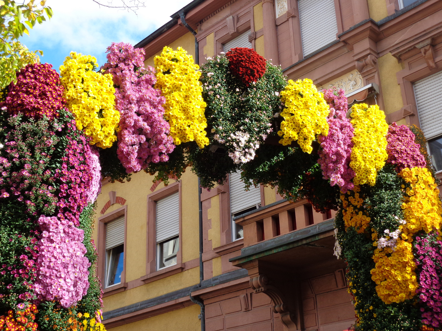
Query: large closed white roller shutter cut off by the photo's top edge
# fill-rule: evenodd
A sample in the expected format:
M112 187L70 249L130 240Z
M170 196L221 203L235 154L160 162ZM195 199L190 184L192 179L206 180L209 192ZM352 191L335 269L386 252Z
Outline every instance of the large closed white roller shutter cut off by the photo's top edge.
M304 56L336 40L334 0L298 0Z

